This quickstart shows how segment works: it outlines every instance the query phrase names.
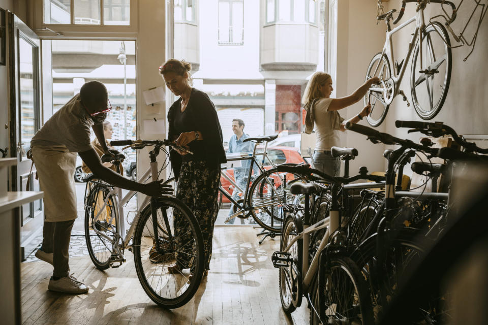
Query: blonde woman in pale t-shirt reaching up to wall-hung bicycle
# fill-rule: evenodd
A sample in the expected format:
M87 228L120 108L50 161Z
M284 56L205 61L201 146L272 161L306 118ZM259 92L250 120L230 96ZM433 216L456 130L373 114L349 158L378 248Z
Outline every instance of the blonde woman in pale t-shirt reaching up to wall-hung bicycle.
M332 78L324 72L316 72L310 78L302 96L303 107L307 110L305 117L306 133L311 134L315 125L317 141L314 151L314 166L330 176L339 176L341 161L332 157L330 148L340 146L338 131L346 131L347 122L353 124L362 120L371 112L371 105L366 105L356 116L349 120L339 115L339 110L359 102L372 84L379 83L378 77L364 82L352 94L343 98L330 98Z

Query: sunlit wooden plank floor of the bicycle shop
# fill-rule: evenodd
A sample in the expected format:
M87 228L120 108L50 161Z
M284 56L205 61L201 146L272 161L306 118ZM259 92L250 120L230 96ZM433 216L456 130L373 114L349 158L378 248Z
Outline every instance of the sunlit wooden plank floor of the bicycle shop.
M185 306L167 310L154 304L137 279L133 256L105 272L89 256L70 259L71 272L89 287L86 295L47 290L52 267L44 262L22 263L23 324L307 324L306 301L291 316L282 308L278 269L271 253L279 239L258 244L257 230L217 226L210 272Z

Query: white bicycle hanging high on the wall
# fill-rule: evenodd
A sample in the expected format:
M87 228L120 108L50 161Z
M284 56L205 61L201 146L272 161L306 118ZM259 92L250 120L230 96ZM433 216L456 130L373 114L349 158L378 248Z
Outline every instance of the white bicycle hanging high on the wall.
M386 22L387 29L383 51L373 57L366 74L367 80L374 76L381 80L380 84L369 89L364 99L365 104L371 103L371 114L367 119L372 126L378 126L383 122L388 107L396 95L402 95L407 106L410 106L407 96L400 89L400 84L412 54L410 91L417 114L425 120L434 118L446 99L452 65L449 36L440 22L431 20L425 24L423 11L431 3L449 5L452 8L452 15L446 23L449 25L456 17L456 7L453 3L444 0L403 0L400 13L393 24L400 21L405 12L405 4L410 2L417 4L416 14L398 27L391 29L390 26L390 20L393 19L396 10L377 16L378 21ZM378 6L381 6L381 0ZM407 53L399 62L395 60L393 53L392 35L413 22L415 22L415 30Z

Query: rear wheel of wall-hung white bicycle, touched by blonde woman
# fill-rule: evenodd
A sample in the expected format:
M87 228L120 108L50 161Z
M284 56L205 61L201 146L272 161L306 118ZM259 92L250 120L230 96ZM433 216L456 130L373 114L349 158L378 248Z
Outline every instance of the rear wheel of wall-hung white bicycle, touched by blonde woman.
M368 70L366 71L366 80L374 77L371 75L371 73L372 71L374 71L374 69L376 69L376 62L378 61L379 64L380 59L382 59L383 67L380 68L381 71L379 71L379 73L375 76L383 80L388 80L391 78L391 69L388 57L386 56L386 54L383 54L383 57L381 57L381 52L379 52L373 56L370 64L368 65ZM384 76L385 67L387 69L386 76ZM383 103L381 101L383 101ZM364 96L364 106L368 105L368 103L371 103L371 113L366 116L366 120L373 127L379 126L384 121L386 113L388 113L388 108L390 107L390 105L386 104L384 101L385 100L383 98L383 94L373 95L371 92L368 91Z

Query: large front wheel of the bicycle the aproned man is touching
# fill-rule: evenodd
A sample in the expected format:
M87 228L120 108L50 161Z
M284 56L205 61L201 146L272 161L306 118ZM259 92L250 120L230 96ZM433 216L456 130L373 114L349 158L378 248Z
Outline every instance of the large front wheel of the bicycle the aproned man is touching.
M134 232L133 253L136 273L142 288L151 300L165 308L178 308L193 298L200 285L205 259L203 235L198 220L186 204L171 197L158 199L157 204L159 229L163 232L168 229L168 224L163 220L163 211L166 211L169 230L174 235L175 220L173 216L177 211L181 217L180 220L185 220L183 222L189 225L189 232L191 232L189 240L181 245L178 242L181 238L158 235L161 237L162 249L165 251L164 253L157 252L154 248L155 238L151 206L150 204L147 205L137 221ZM172 210L168 211L168 209ZM167 269L174 262L178 264L179 258L184 254L188 254L182 249L183 247L190 248L193 252L194 271L192 279L184 271L172 274Z

